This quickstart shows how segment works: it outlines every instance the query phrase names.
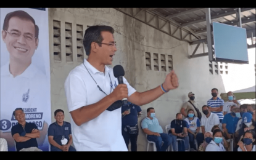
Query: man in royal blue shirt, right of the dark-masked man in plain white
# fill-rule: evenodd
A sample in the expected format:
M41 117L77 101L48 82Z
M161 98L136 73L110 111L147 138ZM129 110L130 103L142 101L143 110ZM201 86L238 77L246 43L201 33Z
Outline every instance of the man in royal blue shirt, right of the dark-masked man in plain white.
M236 132L236 125L239 121L239 118L237 118L236 114L240 114L240 109L236 106L231 106L231 113L225 114L223 118L222 127L224 137L226 139L234 138L234 133Z

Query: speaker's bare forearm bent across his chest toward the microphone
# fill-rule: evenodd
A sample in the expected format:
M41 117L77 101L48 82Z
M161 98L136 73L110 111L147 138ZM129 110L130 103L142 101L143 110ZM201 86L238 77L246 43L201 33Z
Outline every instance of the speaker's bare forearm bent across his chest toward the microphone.
M114 102L114 98L111 98L109 95L107 95L99 102L78 108L75 111L71 111L70 114L75 124L77 126L81 126L81 124L97 118L97 116L99 116L102 112L109 108L109 106L112 105Z

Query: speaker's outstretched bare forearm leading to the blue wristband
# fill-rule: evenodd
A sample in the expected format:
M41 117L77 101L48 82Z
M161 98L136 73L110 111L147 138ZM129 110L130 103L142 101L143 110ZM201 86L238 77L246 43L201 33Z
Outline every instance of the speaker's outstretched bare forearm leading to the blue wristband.
M147 90L145 92L135 92L128 97L128 101L134 103L135 105L141 106L156 100L161 95L163 95L163 91L160 86L157 86L154 89Z

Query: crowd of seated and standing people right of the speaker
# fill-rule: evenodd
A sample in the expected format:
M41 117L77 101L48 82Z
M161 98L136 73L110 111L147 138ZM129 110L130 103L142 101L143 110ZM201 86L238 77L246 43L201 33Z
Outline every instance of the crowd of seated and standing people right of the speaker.
M241 105L233 92L228 92L224 102L214 88L201 114L194 94L189 92L188 97L170 122L168 133L163 133L154 108L147 109L141 127L157 151L166 151L169 146L172 151L255 151L255 104Z

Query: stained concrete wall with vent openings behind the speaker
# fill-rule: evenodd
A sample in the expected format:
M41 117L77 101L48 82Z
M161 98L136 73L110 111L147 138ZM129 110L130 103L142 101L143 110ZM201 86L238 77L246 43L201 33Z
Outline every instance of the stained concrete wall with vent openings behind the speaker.
M62 47L61 62L56 62L53 55L53 20L61 22ZM209 72L209 59L207 56L189 59L193 46L187 42L178 41L167 34L155 30L133 18L118 12L115 9L49 9L49 45L51 58L51 105L52 122L53 113L58 108L65 111L65 121L70 121L70 114L67 109L64 82L68 73L79 65L77 62L76 47L73 47L73 62L65 60L65 22L83 25L85 31L87 25L110 25L115 29L115 41L118 42L117 52L114 56L113 65L122 65L125 69L125 78L138 92L144 92L159 86L168 74L166 71L146 70L145 52L172 55L173 69L178 75L180 87L171 90L152 103L141 106L142 113L146 116L146 110L154 107L156 118L165 130L165 126L175 119L176 113L180 112L182 103L188 100L188 92L196 94L196 101L199 106L205 105L211 95L211 89L217 87L219 95L225 92L220 74ZM74 34L75 35L75 32ZM76 46L76 38L72 38L73 46ZM202 46L198 52L202 52ZM151 60L153 62L153 60ZM201 108L200 108L201 110ZM139 125L142 118L139 119ZM142 130L138 137L138 151L146 151L146 137ZM152 148L150 149L152 150Z

